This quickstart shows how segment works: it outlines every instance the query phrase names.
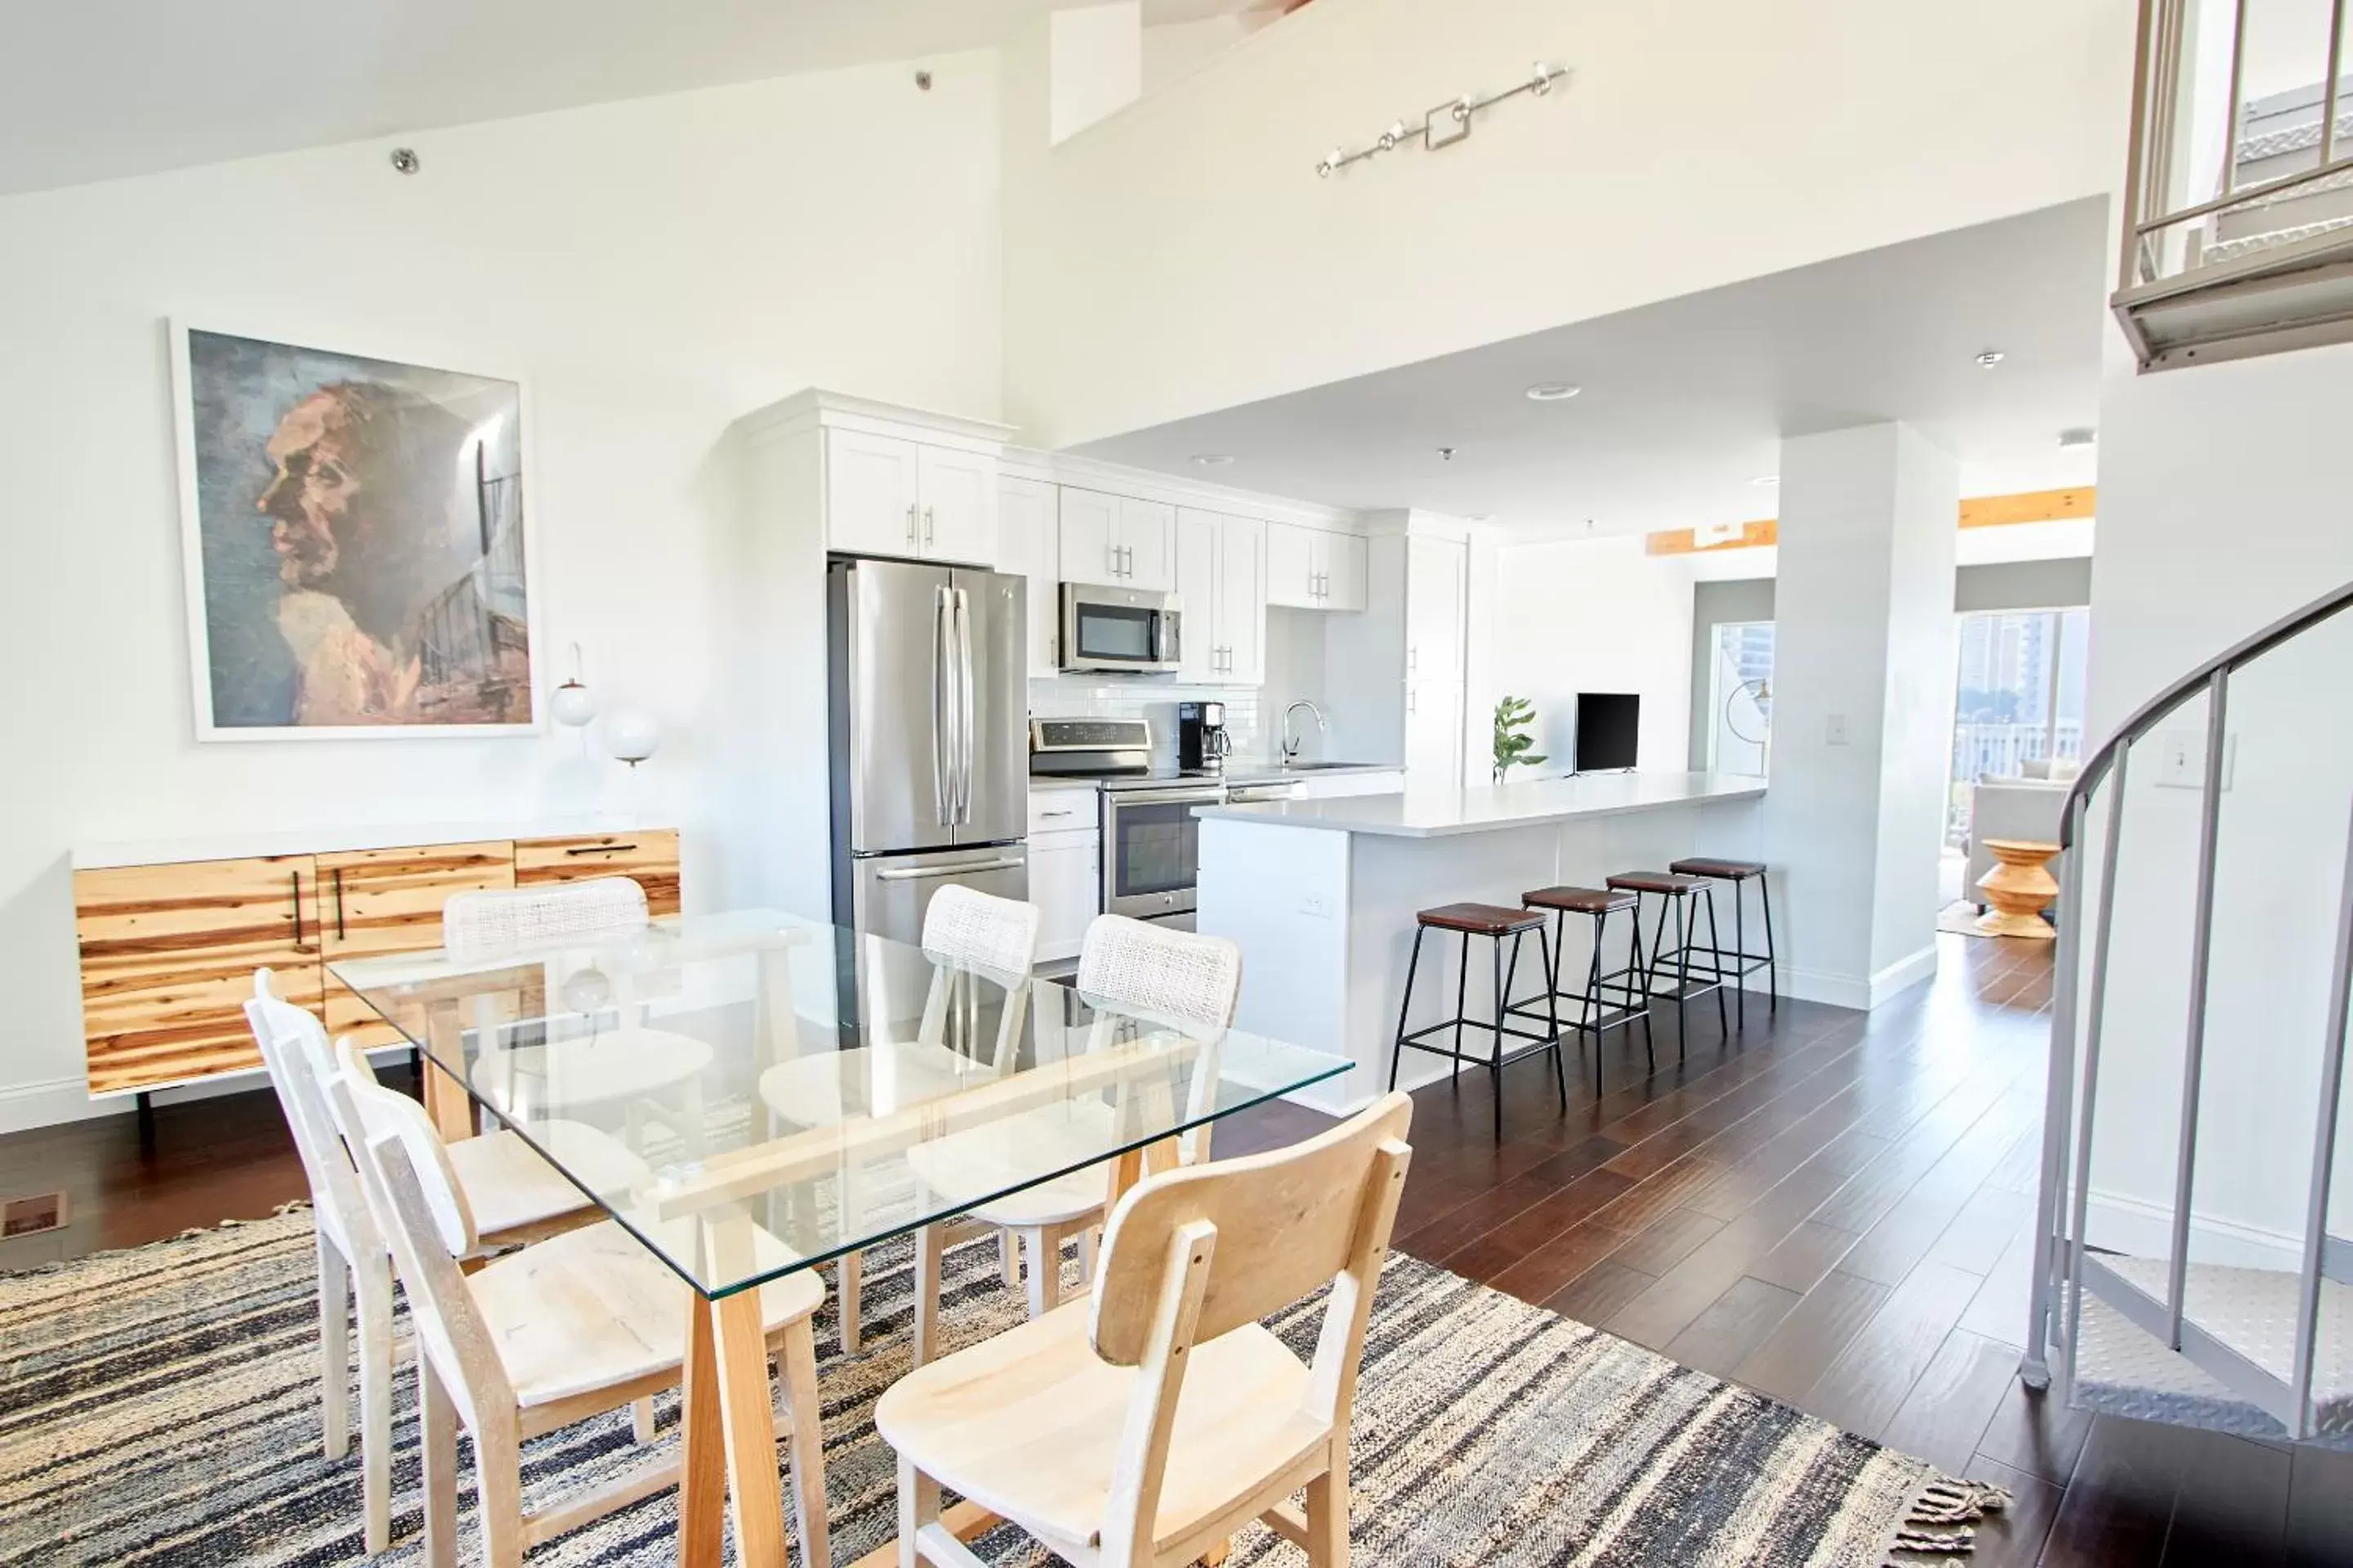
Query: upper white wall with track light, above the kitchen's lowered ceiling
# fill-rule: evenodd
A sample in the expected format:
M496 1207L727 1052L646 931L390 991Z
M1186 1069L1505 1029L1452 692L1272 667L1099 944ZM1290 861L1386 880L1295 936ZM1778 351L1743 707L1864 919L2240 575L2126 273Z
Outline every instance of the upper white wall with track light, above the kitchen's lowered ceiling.
M1007 122L1007 409L1061 447L2101 195L2132 9L1318 0L1052 150ZM1574 78L1315 176L1537 59Z

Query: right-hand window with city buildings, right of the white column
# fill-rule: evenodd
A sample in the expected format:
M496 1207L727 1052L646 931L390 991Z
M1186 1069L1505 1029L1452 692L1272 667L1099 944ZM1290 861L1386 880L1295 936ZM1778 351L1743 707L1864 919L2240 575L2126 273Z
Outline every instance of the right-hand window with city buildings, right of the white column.
M1946 844L1969 842L1979 778L2017 778L2028 762L2082 757L2089 609L2005 609L1960 618L1953 776Z

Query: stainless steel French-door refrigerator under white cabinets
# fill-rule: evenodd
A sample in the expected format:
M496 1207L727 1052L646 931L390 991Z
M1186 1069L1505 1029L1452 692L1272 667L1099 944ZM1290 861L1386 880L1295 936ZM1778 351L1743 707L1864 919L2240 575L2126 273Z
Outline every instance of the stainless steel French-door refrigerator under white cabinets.
M1028 583L838 559L826 590L835 924L915 943L948 884L1028 898Z

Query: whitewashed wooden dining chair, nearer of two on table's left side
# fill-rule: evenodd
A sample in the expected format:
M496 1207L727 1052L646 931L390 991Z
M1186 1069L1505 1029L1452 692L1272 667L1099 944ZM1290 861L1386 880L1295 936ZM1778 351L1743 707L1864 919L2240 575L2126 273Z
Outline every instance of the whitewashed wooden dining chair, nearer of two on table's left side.
M678 1387L692 1288L609 1220L461 1272L459 1260L480 1246L480 1232L449 1145L421 1105L374 1081L348 1039L339 1051L344 1072L334 1093L344 1114L367 1128L365 1192L393 1244L416 1324L426 1563L456 1561L461 1427L473 1436L475 1528L487 1568L520 1568L527 1549L675 1486L680 1460L666 1458L588 1495L522 1509L525 1441ZM675 1225L689 1232L694 1220ZM753 1229L751 1246L767 1267L791 1260L767 1232ZM809 1269L760 1286L760 1321L784 1368L805 1568L833 1561L809 1333L824 1300L826 1286Z

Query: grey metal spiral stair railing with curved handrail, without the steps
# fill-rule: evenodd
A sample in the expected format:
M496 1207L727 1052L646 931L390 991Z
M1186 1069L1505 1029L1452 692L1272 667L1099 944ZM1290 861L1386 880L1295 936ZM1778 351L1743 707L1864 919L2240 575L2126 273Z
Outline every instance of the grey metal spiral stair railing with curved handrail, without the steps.
M2205 1081L2205 1013L2207 978L2214 936L2214 867L2221 830L2221 783L2226 757L2226 722L2231 708L2231 677L2278 649L2280 644L2313 630L2315 625L2353 609L2353 583L2337 588L2304 609L2282 616L2252 637L2224 649L2165 691L2146 701L2108 736L2085 762L2059 820L2061 851L2085 844L2092 799L2101 788L2106 797L2106 835L2099 853L2099 903L2089 910L2085 891L2082 853L2066 853L2059 893L2059 947L2054 954L2057 976L2052 992L2052 1046L2049 1084L2045 1098L2042 1131L2042 1180L2035 1206L2035 1255L2033 1300L2028 1309L2026 1356L2019 1375L2031 1389L2052 1385L2054 1361L2066 1373L2066 1387L2075 1387L2075 1354L2082 1345L2085 1298L2097 1298L2120 1312L2137 1328L2155 1335L2167 1349L2179 1352L2207 1378L2219 1382L2240 1401L2257 1406L2285 1427L2292 1439L2315 1434L2313 1380L2318 1366L2318 1333L2322 1279L2353 1281L2353 1246L2327 1234L2329 1175L2334 1168L2339 1133L2339 1095L2346 1067L2346 1023L2353 1013L2353 820L2346 827L2346 865L2339 884L2337 947L2327 992L2327 1037L2320 1053L2320 1105L2313 1131L2313 1166L2306 1192L2306 1232L2301 1274L2294 1293L2294 1363L2287 1378L2266 1371L2254 1359L2240 1354L2221 1338L2186 1319L2188 1295L2188 1244L2193 1211L2193 1178L2198 1161L2200 1088ZM2125 783L2132 748L2158 724L2193 703L2207 698L2207 750L2205 788L2198 823L2198 870L2191 936L2191 997L2184 1048L2181 1126L2177 1131L2172 1253L2165 1269L2165 1295L2158 1300L2141 1284L2127 1279L2118 1267L2092 1255L2085 1241L2092 1187L2092 1112L2099 1093L2099 1053L2106 1023L2108 957L2115 910L2115 867L2125 827ZM2082 980L2082 943L2089 936L2089 978ZM2080 1025L2080 1027L2078 1027ZM2082 1044L2082 1070L2078 1074L2078 1034ZM2075 1105L2078 1081L2082 1086ZM2061 1206L2066 1213L2061 1215ZM2059 1324L2059 1316L2066 1324Z

